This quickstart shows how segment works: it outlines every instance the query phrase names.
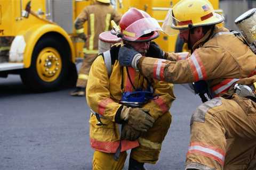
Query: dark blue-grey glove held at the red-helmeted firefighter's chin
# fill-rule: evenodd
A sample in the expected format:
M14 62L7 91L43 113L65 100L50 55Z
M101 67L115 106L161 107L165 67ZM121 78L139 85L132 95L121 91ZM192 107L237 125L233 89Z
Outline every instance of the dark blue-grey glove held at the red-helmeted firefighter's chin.
M121 66L132 66L137 69L137 63L142 55L131 46L122 46L119 49L118 61Z

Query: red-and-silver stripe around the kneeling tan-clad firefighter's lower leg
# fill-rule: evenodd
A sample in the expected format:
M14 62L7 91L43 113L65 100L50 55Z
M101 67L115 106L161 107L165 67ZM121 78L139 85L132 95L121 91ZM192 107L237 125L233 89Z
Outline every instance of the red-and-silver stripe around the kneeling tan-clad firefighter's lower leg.
M219 148L206 146L203 143L198 143L198 142L194 142L190 144L187 155L189 154L198 154L198 155L203 155L205 157L212 158L217 162L219 162L221 165L224 164L224 160L225 160L225 151Z

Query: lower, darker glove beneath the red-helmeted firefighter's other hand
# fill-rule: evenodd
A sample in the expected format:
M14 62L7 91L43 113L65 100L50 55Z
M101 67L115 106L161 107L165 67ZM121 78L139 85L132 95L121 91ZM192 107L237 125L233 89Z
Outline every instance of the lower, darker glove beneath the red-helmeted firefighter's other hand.
M140 137L140 134L141 134L140 131L135 130L134 128L132 128L132 126L125 123L123 125L121 139L134 141Z

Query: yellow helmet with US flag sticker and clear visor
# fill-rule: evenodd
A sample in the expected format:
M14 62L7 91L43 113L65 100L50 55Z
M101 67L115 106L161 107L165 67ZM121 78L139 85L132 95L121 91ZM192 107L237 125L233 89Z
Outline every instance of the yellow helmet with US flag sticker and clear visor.
M223 16L215 13L207 0L181 0L166 15L162 27L166 33L173 35L180 29L218 24L223 20Z

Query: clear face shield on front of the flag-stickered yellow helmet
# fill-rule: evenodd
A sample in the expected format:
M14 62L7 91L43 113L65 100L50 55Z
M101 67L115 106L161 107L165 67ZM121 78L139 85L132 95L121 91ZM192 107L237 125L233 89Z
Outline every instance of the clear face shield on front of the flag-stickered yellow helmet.
M172 26L177 26L180 21L172 15L172 9L170 9L165 17L165 20L162 25L162 29L167 35L174 36L179 34L178 29L173 29Z

